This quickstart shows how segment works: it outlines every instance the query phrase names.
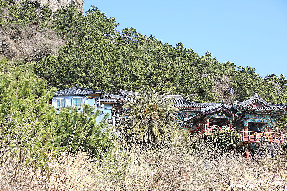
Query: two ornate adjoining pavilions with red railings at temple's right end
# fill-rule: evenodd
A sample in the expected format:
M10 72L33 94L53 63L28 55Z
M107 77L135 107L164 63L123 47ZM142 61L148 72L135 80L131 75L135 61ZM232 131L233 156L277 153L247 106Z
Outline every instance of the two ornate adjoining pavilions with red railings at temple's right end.
M284 143L286 133L273 132L272 127L274 121L286 112L287 103L267 103L255 92L246 101L234 101L231 107L222 103L203 108L196 116L184 118L184 121L196 127L191 134L211 135L219 130L236 130L240 136L237 146L245 149L248 158L250 148L256 154L267 145L268 153L272 155L275 146ZM262 153L266 153L266 149Z

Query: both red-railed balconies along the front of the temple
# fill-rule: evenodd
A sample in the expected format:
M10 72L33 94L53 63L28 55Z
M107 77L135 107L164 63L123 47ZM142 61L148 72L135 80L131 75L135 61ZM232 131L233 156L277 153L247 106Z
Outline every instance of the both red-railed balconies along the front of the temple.
M201 125L200 127L190 131L190 134L212 135L216 131L236 130L236 127L220 126L220 125ZM254 132L254 131L237 131L240 136L240 142L271 142L284 143L286 133L277 132Z

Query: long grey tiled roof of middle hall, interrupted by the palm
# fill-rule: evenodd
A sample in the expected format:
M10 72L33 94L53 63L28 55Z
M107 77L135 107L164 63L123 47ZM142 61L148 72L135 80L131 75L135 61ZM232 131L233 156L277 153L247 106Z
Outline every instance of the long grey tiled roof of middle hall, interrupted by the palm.
M117 93L117 95L104 93L104 96L107 98L115 99L115 100L120 101L120 102L129 102L129 101L135 101L135 100L128 98L127 96L136 96L139 94L140 94L139 92L133 92L133 91L120 89L119 92ZM173 106L178 107L178 108L182 108L182 109L184 109L184 108L198 108L198 109L200 109L200 108L210 107L210 106L218 104L218 103L190 102L190 101L184 99L184 97L182 95L166 95L164 97L165 98L173 98L171 100L171 101L175 102L175 104L173 104Z

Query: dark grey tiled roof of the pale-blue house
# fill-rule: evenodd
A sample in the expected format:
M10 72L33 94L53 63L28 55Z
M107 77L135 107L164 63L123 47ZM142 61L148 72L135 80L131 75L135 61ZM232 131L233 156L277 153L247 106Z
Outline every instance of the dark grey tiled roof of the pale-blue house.
M53 96L80 96L80 95L93 95L102 94L103 90L91 90L82 87L72 87L65 90L56 91Z

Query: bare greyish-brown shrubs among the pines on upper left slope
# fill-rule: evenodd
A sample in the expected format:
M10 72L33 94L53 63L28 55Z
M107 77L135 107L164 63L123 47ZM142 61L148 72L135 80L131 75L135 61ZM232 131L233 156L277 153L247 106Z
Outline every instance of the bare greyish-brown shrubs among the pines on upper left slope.
M39 61L49 55L57 56L57 47L65 44L51 28L0 27L0 53L8 59Z

